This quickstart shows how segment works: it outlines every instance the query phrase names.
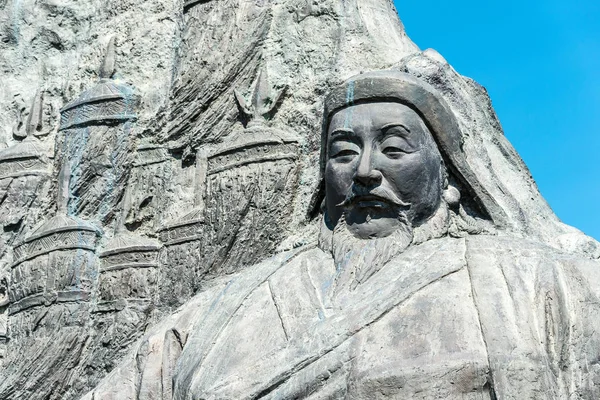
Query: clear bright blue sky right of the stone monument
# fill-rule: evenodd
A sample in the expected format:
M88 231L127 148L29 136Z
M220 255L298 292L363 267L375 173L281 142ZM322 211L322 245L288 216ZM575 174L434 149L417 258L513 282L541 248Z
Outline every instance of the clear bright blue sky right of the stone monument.
M408 36L485 86L558 217L600 239L600 0L394 0Z

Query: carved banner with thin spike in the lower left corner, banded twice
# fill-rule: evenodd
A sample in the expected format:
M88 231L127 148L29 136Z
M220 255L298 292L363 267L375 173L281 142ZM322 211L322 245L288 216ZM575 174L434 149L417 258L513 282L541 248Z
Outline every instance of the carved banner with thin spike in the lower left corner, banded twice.
M54 385L68 386L69 371L78 365L91 336L98 275L95 250L101 231L67 214L68 171L65 165L60 173L57 215L13 251L5 364L11 379L3 382L4 388L17 387L20 380L35 384L41 376L47 393L56 389Z

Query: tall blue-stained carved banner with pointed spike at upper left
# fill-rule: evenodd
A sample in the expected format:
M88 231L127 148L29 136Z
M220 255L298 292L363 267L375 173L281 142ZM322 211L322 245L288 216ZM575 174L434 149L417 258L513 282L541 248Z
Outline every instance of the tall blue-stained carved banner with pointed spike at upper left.
M61 109L57 140L59 157L72 167L70 212L104 223L115 216L129 176L139 100L132 87L112 79L113 53L111 41L100 81Z

